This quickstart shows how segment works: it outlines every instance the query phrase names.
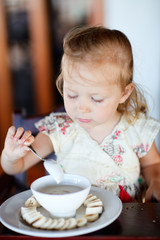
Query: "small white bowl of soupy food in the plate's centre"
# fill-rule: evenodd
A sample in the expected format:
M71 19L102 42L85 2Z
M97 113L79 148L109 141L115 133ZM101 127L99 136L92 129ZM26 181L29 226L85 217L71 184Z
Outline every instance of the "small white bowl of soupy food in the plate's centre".
M68 185L79 189L72 193L53 194L54 187L58 186L64 191L70 188ZM64 179L59 184L51 175L38 178L31 184L32 193L39 204L54 217L74 216L86 199L90 188L91 184L86 177L72 174L64 174Z

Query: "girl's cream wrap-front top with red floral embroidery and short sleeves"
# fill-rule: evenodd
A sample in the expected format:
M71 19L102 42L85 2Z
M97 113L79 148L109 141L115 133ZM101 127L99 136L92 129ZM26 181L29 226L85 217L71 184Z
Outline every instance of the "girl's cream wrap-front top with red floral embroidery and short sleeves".
M92 185L113 191L123 201L131 201L139 189L139 158L149 151L160 122L140 114L130 125L122 116L101 144L66 113L51 113L35 126L50 137L66 173L86 176Z

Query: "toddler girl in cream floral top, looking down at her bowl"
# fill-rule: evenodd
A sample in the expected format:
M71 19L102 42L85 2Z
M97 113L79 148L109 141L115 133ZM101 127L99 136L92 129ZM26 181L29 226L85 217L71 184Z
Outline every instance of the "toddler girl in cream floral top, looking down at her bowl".
M132 48L120 31L104 27L72 29L64 39L57 87L66 113L36 123L40 133L12 126L1 163L8 174L36 164L28 147L42 157L55 151L66 173L88 177L122 201L138 198L140 175L146 200L160 201L160 155L155 137L160 123L147 116L143 94L133 83Z

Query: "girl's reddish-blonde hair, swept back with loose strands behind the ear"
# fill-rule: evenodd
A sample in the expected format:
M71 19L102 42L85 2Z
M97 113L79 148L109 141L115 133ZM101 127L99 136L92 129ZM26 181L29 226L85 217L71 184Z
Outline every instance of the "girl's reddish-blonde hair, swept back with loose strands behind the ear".
M122 90L133 81L133 54L126 35L102 26L76 27L69 31L63 43L64 54L57 88L63 95L63 60L71 62L107 63L118 70L117 82ZM117 72L117 71L116 71ZM118 106L118 111L133 123L140 112L148 110L142 90L135 87L128 99Z

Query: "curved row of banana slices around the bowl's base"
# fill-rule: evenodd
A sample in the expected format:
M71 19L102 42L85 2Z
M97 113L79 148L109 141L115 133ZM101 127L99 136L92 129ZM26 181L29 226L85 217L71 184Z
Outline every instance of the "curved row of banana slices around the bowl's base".
M97 196L89 194L83 205L86 207L85 216L80 218L59 218L53 219L43 216L37 208L40 204L34 196L28 198L25 207L21 207L21 216L29 225L34 228L46 230L70 230L76 227L83 227L87 222L96 221L103 212L103 203Z

